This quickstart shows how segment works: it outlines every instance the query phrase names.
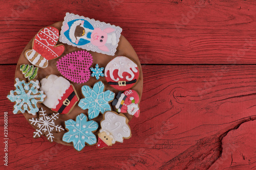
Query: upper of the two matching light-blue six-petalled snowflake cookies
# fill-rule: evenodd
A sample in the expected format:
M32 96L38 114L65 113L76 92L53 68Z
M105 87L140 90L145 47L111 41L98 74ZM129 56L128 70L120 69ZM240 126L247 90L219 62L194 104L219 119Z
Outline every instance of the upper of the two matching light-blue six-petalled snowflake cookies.
M82 86L83 99L79 101L78 106L83 110L88 109L89 119L93 119L105 111L111 110L109 102L114 100L115 93L110 90L104 91L104 84L99 81L94 84L93 89L90 86Z

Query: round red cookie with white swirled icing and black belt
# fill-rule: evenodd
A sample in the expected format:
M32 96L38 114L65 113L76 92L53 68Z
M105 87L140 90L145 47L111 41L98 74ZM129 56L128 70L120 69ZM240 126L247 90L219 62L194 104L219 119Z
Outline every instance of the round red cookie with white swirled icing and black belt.
M138 81L138 65L131 59L118 56L105 67L105 78L108 84L115 89L124 91L132 88Z

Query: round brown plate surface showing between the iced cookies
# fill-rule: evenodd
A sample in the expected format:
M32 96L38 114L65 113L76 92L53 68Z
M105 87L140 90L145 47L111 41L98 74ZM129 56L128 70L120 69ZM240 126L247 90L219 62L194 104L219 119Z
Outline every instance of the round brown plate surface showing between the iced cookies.
M56 22L53 25L51 25L55 28L57 28L60 32L61 26L62 26L62 21ZM39 31L39 30L38 30ZM15 78L19 78L19 79L23 79L27 82L27 79L24 77L24 75L22 74L22 71L19 70L20 65L22 64L29 64L32 65L25 57L25 51L28 49L32 48L32 41L33 38L29 41L29 43L27 44L27 46L24 48L22 54L19 57L18 63L17 63L17 67L16 67L16 71L15 71ZM71 52L75 52L75 51L79 51L79 50L83 50L82 48L78 48L78 47L74 47L68 44L64 44L58 41L57 44L63 44L65 45L65 51L64 53L54 59L54 60L50 60L49 61L49 66L47 68L39 68L38 69L38 73L37 73L37 80L41 80L43 78L46 78L47 76L54 74L57 76L61 76L60 72L57 70L56 67L56 62L63 56L65 56L66 54L69 54ZM91 67L95 67L95 65L98 63L99 67L105 67L106 64L108 64L114 57L116 56L125 56L125 57L129 57L131 58L133 61L135 61L139 67L139 79L138 82L135 84L135 86L132 88L133 90L136 90L140 96L141 99L141 94L142 94L142 87L143 87L143 77L142 77L142 69L141 69L141 65L140 65L140 61L139 58L136 54L136 52L134 51L132 45L121 35L120 37L120 41L118 43L117 46L117 52L115 53L115 56L109 56L109 55L105 55L105 54L99 54L96 52L91 52L88 51L92 56L93 56L93 64L91 65ZM74 85L77 94L79 96L80 99L84 98L84 96L82 95L81 92L81 87L83 85L88 85L93 87L93 85L98 82L98 81L102 81L105 85L105 90L111 90L113 91L115 94L118 93L118 90L114 89L113 87L111 87L110 85L108 85L106 83L105 77L100 77L99 80L96 80L95 77L90 77L89 81L83 84L77 84L77 83L73 83L70 82ZM110 103L111 104L111 103ZM46 107L44 104L38 104L39 109L42 107L44 110L46 110L46 113L48 113L48 115L52 114L53 111L51 109L49 109L48 107ZM116 110L114 107L112 107L112 110ZM88 109L87 110L82 110L79 106L78 106L78 102L75 105L75 107L72 109L72 111L69 114L60 114L59 119L56 121L57 124L60 124L62 127L65 127L65 120L68 119L73 119L75 120L76 116L79 115L80 113L84 113L88 116ZM35 116L33 116L32 114L29 114L27 112L25 112L24 117L28 120L31 119L32 117L36 118L38 117L38 114L36 114ZM132 119L132 115L124 113L124 115L129 119L129 121ZM99 128L98 131L100 129L100 120L103 118L102 114L100 113L98 117L92 119L95 120L98 124L99 124ZM31 125L32 126L32 125ZM33 126L34 127L34 126ZM35 127L34 127L35 128ZM36 128L35 128L36 129ZM96 131L94 134L97 136L98 131ZM59 133L54 133L54 139L53 141L57 142L57 143L61 143L61 144L65 144L65 145L70 145L73 146L72 143L66 143L62 141L62 136L64 133L66 133L66 131L63 132L59 132ZM33 134L31 134L31 136L33 136Z

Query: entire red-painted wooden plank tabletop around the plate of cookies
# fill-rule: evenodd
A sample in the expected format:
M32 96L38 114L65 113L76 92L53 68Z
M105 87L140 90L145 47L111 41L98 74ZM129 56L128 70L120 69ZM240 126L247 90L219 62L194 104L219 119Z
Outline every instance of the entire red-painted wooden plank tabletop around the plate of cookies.
M139 56L141 115L124 143L78 153L34 139L12 113L20 53L66 12L120 26ZM2 1L0 15L1 169L256 169L255 1L20 0Z

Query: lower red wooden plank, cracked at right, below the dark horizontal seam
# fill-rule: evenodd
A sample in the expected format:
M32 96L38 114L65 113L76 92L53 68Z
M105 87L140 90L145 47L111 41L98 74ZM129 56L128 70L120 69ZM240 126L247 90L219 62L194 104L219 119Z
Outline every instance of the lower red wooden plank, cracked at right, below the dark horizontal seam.
M141 116L129 124L132 138L79 153L45 137L33 139L23 115L11 113L5 96L15 67L0 66L6 80L0 112L9 113L8 169L214 169L218 162L218 169L254 169L255 65L144 65ZM232 158L221 157L228 147Z

